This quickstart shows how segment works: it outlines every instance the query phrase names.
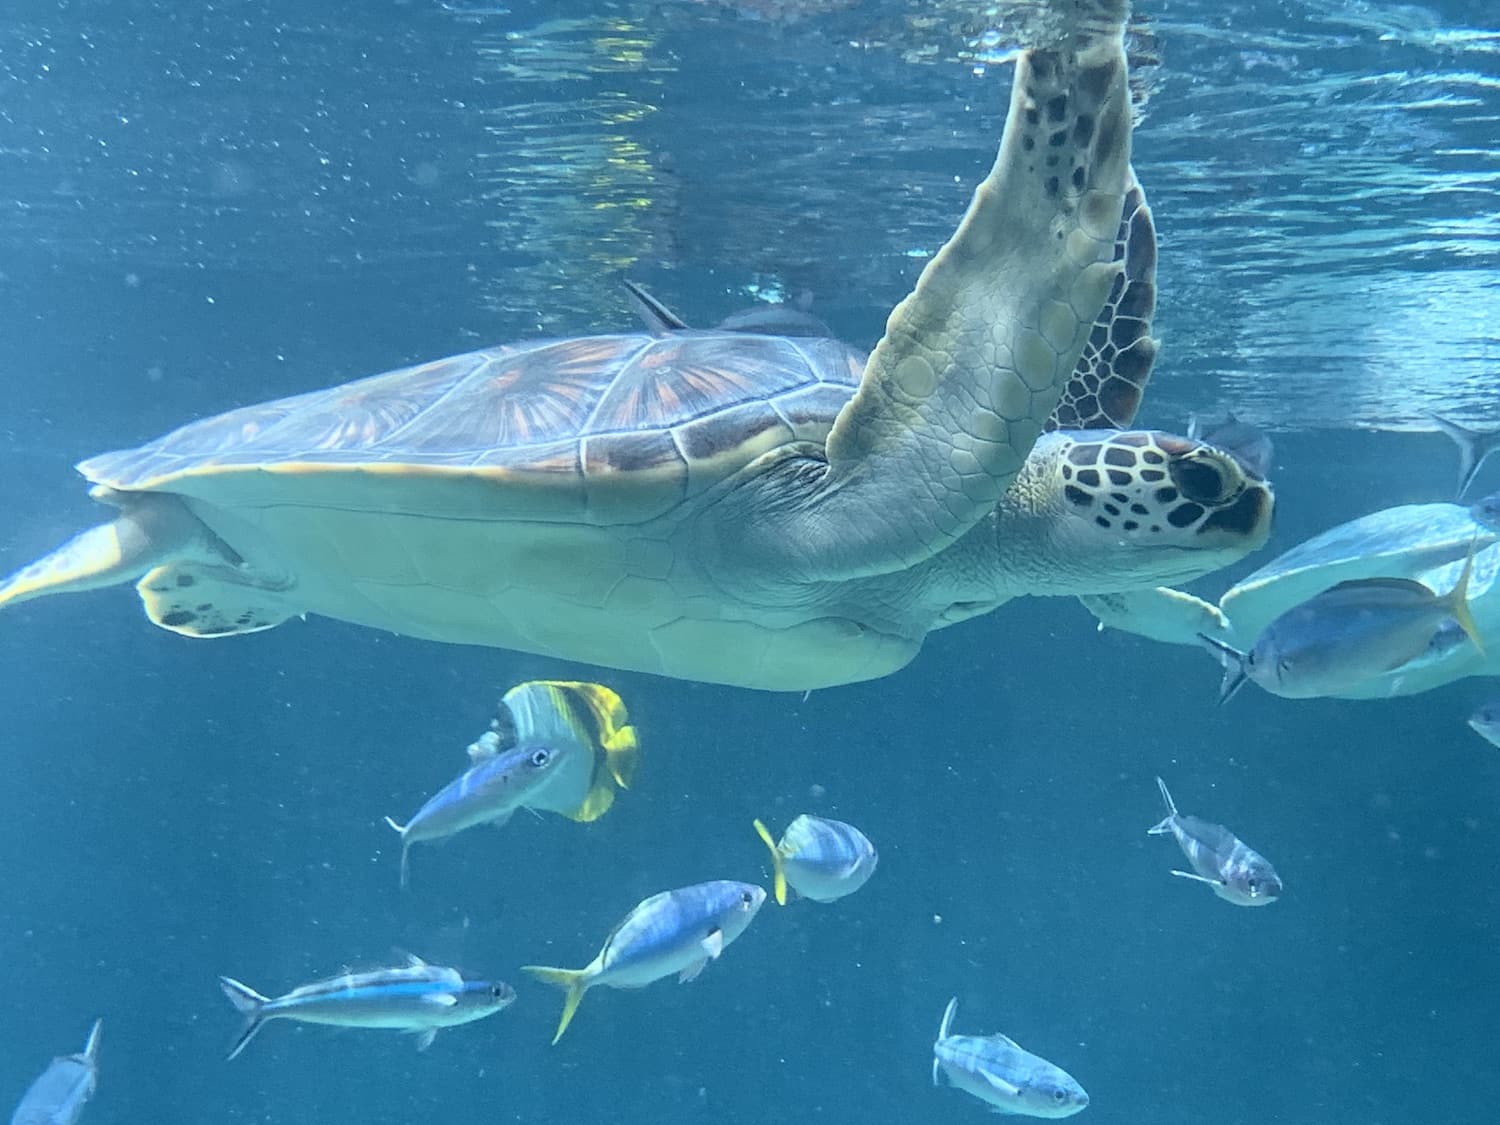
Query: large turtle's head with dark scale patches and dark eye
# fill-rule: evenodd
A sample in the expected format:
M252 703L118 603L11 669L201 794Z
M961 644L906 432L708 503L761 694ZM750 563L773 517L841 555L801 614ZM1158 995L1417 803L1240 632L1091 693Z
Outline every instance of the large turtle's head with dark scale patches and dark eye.
M1044 444L1054 542L1098 592L1197 578L1270 534L1270 486L1216 446L1156 430L1058 430Z

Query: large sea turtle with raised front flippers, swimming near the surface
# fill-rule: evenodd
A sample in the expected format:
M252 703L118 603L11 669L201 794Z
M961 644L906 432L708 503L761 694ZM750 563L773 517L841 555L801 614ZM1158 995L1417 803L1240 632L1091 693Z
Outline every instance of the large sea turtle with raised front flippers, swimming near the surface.
M868 358L663 328L236 410L82 462L118 514L0 606L140 578L152 621L188 636L312 612L806 690L890 674L1020 594L1240 558L1269 486L1204 442L1114 429L1155 356L1155 242L1125 4L1092 8L1020 57L993 170Z

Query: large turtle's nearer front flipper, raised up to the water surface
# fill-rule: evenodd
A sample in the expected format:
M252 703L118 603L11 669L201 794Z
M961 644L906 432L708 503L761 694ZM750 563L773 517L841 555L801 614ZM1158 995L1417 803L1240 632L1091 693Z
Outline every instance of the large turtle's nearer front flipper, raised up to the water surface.
M1122 266L1131 105L1124 3L1026 50L999 156L891 314L798 526L824 576L921 562L992 512ZM898 518L892 516L898 513Z

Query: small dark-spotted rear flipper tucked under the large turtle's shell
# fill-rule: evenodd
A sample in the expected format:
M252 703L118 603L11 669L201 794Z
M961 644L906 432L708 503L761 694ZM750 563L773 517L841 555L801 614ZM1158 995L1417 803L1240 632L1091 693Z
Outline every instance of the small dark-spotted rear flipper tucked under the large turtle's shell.
M135 591L153 624L182 636L260 633L302 615L286 597L290 584L272 584L222 562L168 562L142 578Z

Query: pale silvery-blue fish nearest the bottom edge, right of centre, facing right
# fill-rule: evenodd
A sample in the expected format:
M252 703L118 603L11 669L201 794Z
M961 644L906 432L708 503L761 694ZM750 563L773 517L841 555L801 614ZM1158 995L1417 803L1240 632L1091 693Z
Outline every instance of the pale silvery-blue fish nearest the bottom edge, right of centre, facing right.
M1018 1118L1071 1118L1088 1108L1083 1086L1005 1035L951 1035L958 998L948 1000L933 1044L933 1086L948 1078L998 1113Z

